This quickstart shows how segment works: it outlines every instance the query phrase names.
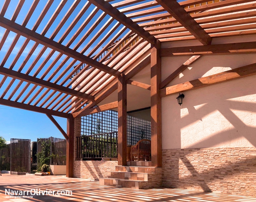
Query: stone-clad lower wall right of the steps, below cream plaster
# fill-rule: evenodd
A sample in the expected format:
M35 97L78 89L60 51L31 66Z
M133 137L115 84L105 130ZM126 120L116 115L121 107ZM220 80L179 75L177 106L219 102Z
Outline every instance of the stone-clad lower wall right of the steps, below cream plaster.
M256 148L163 150L163 186L256 196Z

